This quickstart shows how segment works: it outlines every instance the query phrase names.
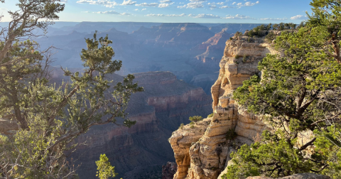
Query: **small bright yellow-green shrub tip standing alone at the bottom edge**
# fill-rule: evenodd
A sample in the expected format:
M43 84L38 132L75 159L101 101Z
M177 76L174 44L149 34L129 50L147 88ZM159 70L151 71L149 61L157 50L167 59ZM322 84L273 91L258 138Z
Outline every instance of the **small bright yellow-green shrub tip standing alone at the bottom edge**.
M99 179L114 178L117 173L115 173L115 167L110 165L109 159L105 154L99 156L99 161L96 161L97 174Z

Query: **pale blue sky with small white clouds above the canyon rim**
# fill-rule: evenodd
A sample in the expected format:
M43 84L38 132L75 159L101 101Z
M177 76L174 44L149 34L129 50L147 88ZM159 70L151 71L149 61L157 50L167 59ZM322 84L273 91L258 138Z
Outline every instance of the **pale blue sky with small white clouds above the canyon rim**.
M61 0L60 21L137 21L193 23L301 23L310 0ZM16 0L0 4L16 10Z

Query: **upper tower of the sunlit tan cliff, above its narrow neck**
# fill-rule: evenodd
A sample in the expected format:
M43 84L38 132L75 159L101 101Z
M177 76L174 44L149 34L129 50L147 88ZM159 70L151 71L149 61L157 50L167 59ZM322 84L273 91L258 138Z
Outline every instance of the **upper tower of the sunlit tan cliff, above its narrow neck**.
M238 36L227 40L224 56L220 60L220 74L212 86L212 107L216 107L219 97L231 94L244 80L259 74L257 65L266 53L276 53L264 38L250 40L248 36Z

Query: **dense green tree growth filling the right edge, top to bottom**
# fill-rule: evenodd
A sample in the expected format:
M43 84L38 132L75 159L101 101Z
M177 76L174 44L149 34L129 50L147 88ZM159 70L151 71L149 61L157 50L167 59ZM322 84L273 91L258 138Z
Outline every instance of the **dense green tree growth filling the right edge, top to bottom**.
M307 172L341 178L340 2L311 5L307 26L276 38L283 56L268 54L259 63L263 78L251 77L234 92L239 104L263 114L272 129L264 131L261 142L232 154L234 165L225 178ZM306 131L313 135L299 141ZM309 147L313 150L306 151Z

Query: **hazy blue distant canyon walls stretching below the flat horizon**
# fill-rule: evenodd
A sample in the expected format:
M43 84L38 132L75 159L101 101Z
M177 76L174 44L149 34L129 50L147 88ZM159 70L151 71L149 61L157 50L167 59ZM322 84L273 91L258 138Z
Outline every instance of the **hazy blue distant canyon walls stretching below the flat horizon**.
M85 38L107 36L115 59L122 60L119 75L136 72L170 71L190 85L210 87L218 77L224 43L237 31L259 24L240 23L56 23L47 36L36 39L42 49L53 45L55 67L80 68L80 51Z

